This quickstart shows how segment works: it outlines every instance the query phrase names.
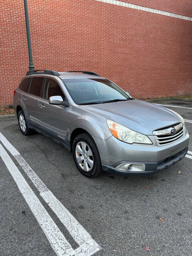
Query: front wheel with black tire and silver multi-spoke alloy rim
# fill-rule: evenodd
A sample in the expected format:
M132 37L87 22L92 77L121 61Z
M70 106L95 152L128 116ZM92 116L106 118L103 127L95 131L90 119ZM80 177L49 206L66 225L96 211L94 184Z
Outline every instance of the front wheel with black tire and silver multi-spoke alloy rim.
M82 133L76 136L72 152L75 164L84 176L94 178L102 172L99 151L90 134Z

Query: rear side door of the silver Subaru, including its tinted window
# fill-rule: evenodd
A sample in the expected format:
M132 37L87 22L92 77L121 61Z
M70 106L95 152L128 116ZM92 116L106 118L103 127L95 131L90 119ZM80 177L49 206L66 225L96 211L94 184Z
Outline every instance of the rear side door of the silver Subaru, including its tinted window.
M22 108L27 119L28 124L39 127L39 99L42 92L42 86L45 77L32 77L28 83L26 92L22 94Z

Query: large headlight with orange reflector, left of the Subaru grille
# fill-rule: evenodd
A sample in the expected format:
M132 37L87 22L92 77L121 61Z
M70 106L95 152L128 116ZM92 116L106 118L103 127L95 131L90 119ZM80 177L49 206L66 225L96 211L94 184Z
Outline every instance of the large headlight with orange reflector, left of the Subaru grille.
M107 119L107 125L113 136L115 136L119 140L122 140L130 144L152 144L152 142L146 135L141 134L139 132L135 132L122 124L118 124Z

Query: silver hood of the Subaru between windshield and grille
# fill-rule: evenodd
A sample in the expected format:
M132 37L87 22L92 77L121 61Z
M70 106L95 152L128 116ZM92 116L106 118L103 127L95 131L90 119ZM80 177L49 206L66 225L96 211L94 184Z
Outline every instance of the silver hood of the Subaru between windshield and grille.
M167 108L142 100L81 105L80 108L146 135L152 135L156 129L181 122Z

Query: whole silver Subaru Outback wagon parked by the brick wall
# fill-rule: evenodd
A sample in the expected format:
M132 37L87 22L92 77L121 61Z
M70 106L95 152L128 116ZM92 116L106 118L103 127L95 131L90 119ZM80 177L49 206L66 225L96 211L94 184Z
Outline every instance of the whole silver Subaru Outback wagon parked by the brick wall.
M13 106L22 134L35 130L64 145L87 177L154 174L188 151L182 116L94 72L28 71Z

